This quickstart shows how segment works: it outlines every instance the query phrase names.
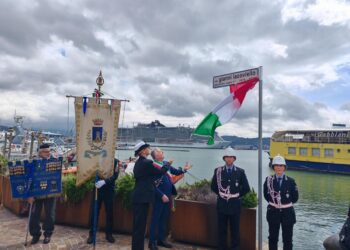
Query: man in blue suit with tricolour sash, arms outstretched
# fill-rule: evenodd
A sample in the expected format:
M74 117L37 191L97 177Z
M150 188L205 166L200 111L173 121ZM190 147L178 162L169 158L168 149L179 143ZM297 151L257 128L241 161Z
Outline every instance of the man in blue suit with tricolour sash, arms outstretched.
M190 164L186 164L184 169L174 168L171 166L172 161L164 161L164 153L161 149L155 148L151 152L154 160L154 167L160 169L164 165L169 165L169 172L172 175L181 175L191 168ZM166 242L166 225L170 215L171 196L176 195L176 188L169 174L162 174L155 181L156 197L153 203L152 219L149 230L149 244L151 250L157 249L157 246L171 248L172 245Z

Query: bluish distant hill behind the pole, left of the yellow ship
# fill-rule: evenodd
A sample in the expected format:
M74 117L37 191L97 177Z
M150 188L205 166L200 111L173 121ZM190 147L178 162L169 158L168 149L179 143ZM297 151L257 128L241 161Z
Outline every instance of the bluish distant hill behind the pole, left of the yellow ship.
M259 138L244 138L238 136L221 136L225 141L231 141L230 146L235 149L258 149L259 147ZM263 149L270 149L270 138L262 138Z

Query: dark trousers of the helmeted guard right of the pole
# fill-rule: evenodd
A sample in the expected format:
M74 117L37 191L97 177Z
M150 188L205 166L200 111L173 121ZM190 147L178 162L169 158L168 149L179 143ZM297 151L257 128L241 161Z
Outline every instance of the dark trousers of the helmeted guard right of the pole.
M278 249L280 226L282 226L283 250L293 249L294 208L276 209L269 206L266 217L269 223L269 250Z

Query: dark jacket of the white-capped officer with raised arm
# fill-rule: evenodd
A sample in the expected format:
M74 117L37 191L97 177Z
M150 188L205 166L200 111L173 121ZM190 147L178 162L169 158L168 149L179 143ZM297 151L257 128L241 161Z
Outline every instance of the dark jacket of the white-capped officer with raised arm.
M134 166L135 188L132 194L133 203L153 202L155 197L154 181L159 174L164 174L168 166L157 169L153 161L140 156Z

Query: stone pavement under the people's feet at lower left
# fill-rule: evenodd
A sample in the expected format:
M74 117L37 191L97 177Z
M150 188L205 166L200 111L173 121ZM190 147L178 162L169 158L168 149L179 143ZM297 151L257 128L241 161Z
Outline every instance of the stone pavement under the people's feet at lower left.
M28 218L17 217L6 208L0 208L0 250L15 250L15 249L93 249L91 245L86 244L88 230L84 228L67 227L55 225L55 232L51 237L50 244L42 244L43 236L39 243L31 246L31 236L28 235L28 246L24 246ZM105 240L105 234L99 232L97 235L96 249L131 249L131 236L124 234L113 234L116 242L114 244L108 243ZM203 248L198 246L191 246L180 244L178 242L171 242L175 250L206 250L210 248ZM145 249L148 241L145 240ZM159 247L159 249L166 249Z

